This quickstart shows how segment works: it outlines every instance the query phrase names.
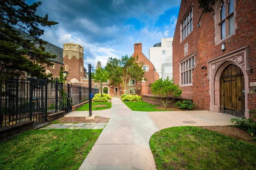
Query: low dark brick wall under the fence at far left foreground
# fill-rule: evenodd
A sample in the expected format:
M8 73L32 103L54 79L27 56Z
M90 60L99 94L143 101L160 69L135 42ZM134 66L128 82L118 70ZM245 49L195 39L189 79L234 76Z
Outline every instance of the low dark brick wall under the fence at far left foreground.
M4 141L24 131L33 129L33 123L33 121L25 121L0 128L0 141Z

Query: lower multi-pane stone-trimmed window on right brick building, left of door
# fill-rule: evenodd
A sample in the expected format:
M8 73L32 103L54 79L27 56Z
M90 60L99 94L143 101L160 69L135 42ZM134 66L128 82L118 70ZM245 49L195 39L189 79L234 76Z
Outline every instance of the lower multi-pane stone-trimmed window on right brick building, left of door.
M180 64L180 84L191 85L192 84L192 72L195 68L195 56L186 59Z

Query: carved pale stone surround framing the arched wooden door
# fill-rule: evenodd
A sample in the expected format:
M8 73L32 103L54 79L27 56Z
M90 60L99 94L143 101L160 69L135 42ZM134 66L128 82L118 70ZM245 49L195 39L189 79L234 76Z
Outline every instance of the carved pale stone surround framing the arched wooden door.
M245 113L244 116L248 117L248 75L251 74L249 68L249 54L248 47L241 48L229 54L225 54L216 59L208 62L208 77L209 81L209 95L210 95L210 111L221 112L221 96L220 96L220 80L221 74L228 65L233 64L241 68L244 74L244 99L245 99Z

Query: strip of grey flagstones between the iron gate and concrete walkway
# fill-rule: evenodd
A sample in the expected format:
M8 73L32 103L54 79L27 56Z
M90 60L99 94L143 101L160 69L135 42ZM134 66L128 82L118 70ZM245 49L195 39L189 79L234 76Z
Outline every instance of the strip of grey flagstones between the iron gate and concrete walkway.
M107 123L59 123L41 129L104 129Z

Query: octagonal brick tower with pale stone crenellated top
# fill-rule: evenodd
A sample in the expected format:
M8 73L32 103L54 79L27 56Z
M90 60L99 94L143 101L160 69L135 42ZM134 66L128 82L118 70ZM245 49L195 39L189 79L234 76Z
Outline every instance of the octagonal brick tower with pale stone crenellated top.
M64 69L71 82L82 82L84 78L84 48L79 44L63 44Z

